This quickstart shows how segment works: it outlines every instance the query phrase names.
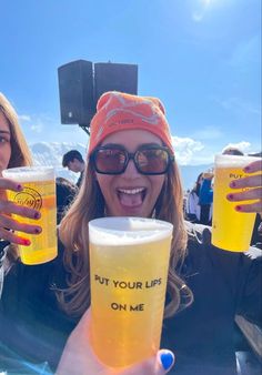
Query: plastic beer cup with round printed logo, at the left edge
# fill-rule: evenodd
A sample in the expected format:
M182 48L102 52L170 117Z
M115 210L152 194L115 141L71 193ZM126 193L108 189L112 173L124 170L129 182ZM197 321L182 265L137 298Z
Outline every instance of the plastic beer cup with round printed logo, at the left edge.
M24 264L41 264L53 260L57 249L57 202L54 170L51 166L21 166L2 171L2 175L23 185L21 192L8 191L8 197L17 204L26 205L41 212L36 220L12 214L21 223L38 224L42 227L40 234L22 233L30 240L29 246L18 245L21 262ZM19 234L19 232L17 232Z

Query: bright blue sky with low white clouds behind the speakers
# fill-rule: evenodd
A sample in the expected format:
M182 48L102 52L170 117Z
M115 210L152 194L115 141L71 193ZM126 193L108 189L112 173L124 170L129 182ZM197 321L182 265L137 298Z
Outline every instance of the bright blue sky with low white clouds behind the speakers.
M261 150L260 0L2 0L0 91L29 143L88 143L60 123L58 67L139 65L139 94L165 105L181 164L229 143Z

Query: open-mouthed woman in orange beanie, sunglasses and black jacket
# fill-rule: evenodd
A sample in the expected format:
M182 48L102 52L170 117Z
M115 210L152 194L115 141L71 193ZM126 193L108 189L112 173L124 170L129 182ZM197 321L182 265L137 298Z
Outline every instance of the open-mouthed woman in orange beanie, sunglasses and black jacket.
M162 347L177 357L170 374L235 374L234 315L260 322L261 262L212 246L209 227L183 221L181 179L160 100L107 92L97 109L84 181L59 227L59 256L40 266L13 265L4 280L0 339L54 368L72 332L58 374L75 366L72 357L80 366L75 374L91 374L91 354L81 341L90 305L88 223L103 216L155 217L174 227L162 328ZM259 163L249 165L249 172L258 170ZM259 179L241 183L256 188L249 199L258 200L239 204L242 211L261 211ZM154 374L144 368L141 374Z

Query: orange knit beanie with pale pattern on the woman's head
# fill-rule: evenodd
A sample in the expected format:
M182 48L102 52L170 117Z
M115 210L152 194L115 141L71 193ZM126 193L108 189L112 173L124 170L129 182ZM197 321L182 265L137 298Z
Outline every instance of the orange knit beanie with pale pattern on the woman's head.
M88 155L109 135L121 130L142 129L158 135L173 153L164 107L158 98L118 91L103 93L90 124Z

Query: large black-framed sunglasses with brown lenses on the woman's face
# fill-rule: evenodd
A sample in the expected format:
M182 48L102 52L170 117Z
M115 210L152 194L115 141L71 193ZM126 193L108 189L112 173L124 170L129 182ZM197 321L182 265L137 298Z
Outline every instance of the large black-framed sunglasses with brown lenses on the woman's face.
M167 173L174 161L170 150L160 145L143 145L135 152L128 152L121 145L104 145L97 148L90 156L95 172L101 174L123 173L131 159L139 173L149 175Z

